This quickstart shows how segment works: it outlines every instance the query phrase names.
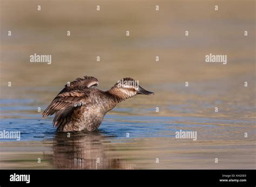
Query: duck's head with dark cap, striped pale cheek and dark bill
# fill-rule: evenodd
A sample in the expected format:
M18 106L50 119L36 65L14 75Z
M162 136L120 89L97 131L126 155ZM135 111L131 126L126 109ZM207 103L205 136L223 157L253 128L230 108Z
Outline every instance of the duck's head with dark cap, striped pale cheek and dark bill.
M153 95L151 91L147 91L140 87L139 81L133 80L133 78L122 78L122 80L117 81L116 84L111 88L111 93L122 98L122 100L130 98L132 96L143 94L143 95Z

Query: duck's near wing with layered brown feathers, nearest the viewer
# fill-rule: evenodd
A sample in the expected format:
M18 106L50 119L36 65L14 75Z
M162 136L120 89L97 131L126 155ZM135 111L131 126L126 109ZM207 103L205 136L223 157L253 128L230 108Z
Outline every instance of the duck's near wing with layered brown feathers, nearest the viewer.
M89 97L89 93L89 88L80 86L69 92L58 94L43 112L43 117L56 114L53 120L53 126L58 127L60 119L70 116L70 114L78 107L89 104L89 99L87 99Z

